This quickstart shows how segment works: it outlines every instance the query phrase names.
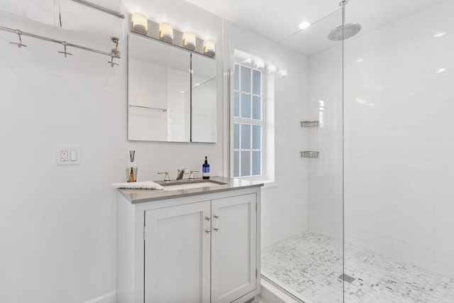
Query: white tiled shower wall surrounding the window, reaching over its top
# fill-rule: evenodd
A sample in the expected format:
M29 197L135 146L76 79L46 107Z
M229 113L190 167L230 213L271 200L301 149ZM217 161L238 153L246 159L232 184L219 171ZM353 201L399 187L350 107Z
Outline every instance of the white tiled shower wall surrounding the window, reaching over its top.
M224 21L224 64L233 66L233 50L258 54L276 67L274 116L275 184L262 189L262 247L307 230L308 162L299 157L307 148L307 133L299 121L307 117L307 58L286 50L233 23ZM274 46L272 46L274 45ZM227 145L226 145L227 146Z

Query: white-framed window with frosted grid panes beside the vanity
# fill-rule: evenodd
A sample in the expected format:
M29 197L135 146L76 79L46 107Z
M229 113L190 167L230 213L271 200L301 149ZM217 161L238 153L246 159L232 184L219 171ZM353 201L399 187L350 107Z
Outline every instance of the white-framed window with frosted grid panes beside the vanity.
M233 72L233 177L264 175L263 74L247 64Z

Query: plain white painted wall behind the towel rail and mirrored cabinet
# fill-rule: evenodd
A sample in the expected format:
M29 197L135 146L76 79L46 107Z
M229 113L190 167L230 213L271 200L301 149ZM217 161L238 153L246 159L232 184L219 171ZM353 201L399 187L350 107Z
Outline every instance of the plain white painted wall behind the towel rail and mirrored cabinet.
M193 22L206 15L179 2ZM217 20L210 30L221 36ZM0 25L103 50L113 46L107 35L7 16ZM159 180L156 172L165 170L175 178L177 167L201 168L205 155L212 174L223 175L221 69L219 143L128 142L126 39L114 69L109 57L70 50L74 55L65 59L60 45L23 38L28 48L18 49L9 44L16 39L0 32L0 302L114 302L116 218L109 185L125 180L131 149L138 180ZM57 166L59 146L79 146L82 165Z

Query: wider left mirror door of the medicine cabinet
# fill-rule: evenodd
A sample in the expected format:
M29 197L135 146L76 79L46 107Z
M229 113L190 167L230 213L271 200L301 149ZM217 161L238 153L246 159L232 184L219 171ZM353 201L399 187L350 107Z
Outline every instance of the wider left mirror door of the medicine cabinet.
M129 140L189 142L190 55L129 36Z

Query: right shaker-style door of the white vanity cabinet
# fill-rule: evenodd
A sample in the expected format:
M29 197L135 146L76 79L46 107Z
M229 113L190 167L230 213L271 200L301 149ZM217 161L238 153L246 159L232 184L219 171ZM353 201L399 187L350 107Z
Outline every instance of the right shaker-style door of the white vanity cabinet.
M256 288L256 195L211 202L211 302L233 302Z

